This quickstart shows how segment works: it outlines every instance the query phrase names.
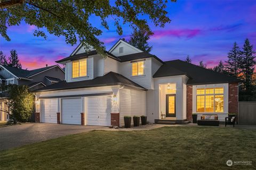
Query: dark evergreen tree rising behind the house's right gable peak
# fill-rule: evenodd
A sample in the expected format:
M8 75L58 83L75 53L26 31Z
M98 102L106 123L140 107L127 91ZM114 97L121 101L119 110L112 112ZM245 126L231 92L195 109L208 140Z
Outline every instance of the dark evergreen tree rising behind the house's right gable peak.
M135 29L131 35L131 39L128 41L132 46L139 48L143 52L151 52L152 46L149 46L147 41L150 39L149 36L153 33L146 32L142 29Z

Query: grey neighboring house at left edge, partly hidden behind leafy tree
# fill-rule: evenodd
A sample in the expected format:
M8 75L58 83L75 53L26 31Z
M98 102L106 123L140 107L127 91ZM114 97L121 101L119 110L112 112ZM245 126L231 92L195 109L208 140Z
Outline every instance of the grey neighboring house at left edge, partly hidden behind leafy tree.
M64 79L65 72L59 65L46 65L46 67L35 70L23 70L6 65L0 65L1 84L27 85L31 91L60 82ZM5 95L2 95L2 97L0 97L1 109L7 109L4 103ZM0 121L6 121L7 119L8 115L0 111Z

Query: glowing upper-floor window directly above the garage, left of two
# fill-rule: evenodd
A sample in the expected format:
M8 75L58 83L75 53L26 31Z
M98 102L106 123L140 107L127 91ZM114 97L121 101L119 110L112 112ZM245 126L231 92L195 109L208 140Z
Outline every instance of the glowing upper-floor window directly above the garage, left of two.
M87 76L87 58L72 62L72 78Z

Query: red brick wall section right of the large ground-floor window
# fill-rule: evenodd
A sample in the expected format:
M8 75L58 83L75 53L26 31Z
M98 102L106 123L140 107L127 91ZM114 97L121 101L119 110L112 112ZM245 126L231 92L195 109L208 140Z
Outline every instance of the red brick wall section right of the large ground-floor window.
M228 84L228 113L238 113L238 83Z

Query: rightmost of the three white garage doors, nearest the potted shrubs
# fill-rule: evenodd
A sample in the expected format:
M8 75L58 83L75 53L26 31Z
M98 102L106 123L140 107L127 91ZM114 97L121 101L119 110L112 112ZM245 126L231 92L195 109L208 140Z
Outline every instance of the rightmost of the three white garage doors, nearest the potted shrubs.
M109 126L111 123L111 97L88 97L87 124Z

